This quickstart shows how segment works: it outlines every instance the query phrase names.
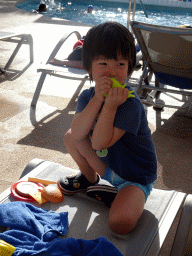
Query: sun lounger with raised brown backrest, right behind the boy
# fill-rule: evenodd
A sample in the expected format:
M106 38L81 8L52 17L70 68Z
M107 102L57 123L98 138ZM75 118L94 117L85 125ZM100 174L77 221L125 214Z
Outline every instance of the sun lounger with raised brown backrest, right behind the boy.
M149 25L137 21L131 27L145 63L136 92L145 104L187 108L192 103L192 30ZM155 86L150 84L155 75ZM167 87L168 86L168 87ZM155 94L150 94L153 91ZM161 103L160 93L181 94L185 104ZM149 100L153 96L156 101Z

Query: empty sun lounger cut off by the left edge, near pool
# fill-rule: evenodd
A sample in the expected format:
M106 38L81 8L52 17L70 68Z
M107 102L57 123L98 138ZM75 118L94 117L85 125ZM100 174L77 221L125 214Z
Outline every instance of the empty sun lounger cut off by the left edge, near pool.
M16 43L17 46L13 51L11 57L7 61L4 68L0 68L0 73L5 73L13 62L15 56L17 55L19 49L23 44L29 45L30 63L33 62L33 38L30 34L15 34L11 32L0 32L0 40L9 43Z

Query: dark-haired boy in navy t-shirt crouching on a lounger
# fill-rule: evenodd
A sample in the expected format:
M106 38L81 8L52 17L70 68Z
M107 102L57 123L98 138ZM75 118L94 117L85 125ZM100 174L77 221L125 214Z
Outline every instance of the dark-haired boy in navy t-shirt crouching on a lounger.
M80 173L58 181L65 194L98 184L101 178L118 190L109 211L109 226L118 234L133 230L156 179L157 161L144 107L124 84L135 65L131 33L107 22L91 28L84 40L83 65L95 87L79 96L71 129L64 137ZM107 94L107 96L106 96Z

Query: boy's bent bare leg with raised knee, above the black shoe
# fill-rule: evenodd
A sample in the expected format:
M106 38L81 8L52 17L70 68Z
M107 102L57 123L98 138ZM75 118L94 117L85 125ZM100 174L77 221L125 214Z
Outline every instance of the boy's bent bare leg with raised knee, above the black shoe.
M77 141L69 130L64 137L64 143L69 154L73 157L80 171L92 183L97 180L97 173L103 177L107 168L101 159L95 153L91 146L91 141L86 137L81 141Z

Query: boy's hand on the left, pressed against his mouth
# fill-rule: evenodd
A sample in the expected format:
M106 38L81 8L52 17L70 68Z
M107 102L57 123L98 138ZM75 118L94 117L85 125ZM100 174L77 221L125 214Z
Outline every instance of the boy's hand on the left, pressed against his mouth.
M111 89L112 81L107 76L102 76L97 79L95 84L95 97L97 100L103 102L105 100L105 94Z

